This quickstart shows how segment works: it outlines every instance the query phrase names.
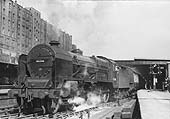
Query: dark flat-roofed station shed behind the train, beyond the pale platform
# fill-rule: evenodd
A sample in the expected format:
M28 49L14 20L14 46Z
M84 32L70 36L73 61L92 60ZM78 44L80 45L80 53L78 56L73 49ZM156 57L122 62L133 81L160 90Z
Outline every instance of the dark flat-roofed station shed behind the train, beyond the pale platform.
M170 79L170 60L165 59L134 59L115 60L120 65L134 68L145 79L142 88L164 89L167 79ZM146 84L146 85L145 85Z

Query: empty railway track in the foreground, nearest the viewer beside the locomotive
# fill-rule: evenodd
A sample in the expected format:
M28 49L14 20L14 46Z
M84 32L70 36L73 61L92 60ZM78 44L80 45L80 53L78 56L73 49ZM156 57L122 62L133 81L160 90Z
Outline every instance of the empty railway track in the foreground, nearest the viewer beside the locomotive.
M19 109L18 112L11 113L12 111L10 110L13 109L9 108L8 110L4 109L4 112L0 113L0 119L93 119L96 117L95 115L98 115L98 113L100 115L98 115L98 118L96 119L99 119L99 116L100 119L106 119L107 115L113 115L113 110L115 110L115 108L121 107L121 105L127 101L128 100L121 101L120 104L116 102L102 103L96 106L89 106L84 109L80 108L78 111L57 112L55 114L46 115L39 115L38 113L24 115L19 112Z

